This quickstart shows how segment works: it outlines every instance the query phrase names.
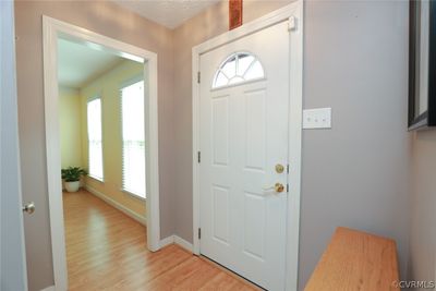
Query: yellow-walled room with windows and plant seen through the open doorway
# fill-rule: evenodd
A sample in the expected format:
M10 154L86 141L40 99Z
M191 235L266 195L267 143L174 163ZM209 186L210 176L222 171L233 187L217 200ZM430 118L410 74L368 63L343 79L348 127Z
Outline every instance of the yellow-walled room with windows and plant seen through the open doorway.
M120 263L96 258L146 245L144 64L62 38L58 53L69 289L80 290L89 269Z

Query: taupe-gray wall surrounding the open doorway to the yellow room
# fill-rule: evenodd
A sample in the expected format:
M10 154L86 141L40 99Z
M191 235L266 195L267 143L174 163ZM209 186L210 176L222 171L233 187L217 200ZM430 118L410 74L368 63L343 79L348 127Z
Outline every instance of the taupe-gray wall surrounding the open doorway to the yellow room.
M172 33L107 1L17 1L15 32L23 199L29 290L53 284L47 196L41 15L65 21L158 53L161 237L173 234ZM60 167L60 165L59 165Z

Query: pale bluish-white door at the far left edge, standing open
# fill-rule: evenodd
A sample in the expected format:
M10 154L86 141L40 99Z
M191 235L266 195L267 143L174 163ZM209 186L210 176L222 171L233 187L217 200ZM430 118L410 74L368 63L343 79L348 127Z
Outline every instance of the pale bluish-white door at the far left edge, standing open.
M0 1L0 290L27 290L19 159L13 1Z

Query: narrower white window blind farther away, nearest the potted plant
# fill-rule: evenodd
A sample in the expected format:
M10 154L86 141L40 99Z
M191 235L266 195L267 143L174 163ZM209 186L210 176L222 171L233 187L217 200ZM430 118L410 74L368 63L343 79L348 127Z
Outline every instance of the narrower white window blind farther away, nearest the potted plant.
M89 175L102 181L101 99L87 104Z

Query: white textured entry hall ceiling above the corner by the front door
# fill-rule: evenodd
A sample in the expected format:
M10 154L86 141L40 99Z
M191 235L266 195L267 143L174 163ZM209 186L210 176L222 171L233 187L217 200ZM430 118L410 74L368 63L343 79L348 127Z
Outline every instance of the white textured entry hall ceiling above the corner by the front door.
M206 8L221 0L111 0L120 7L157 22L168 28L175 28Z

